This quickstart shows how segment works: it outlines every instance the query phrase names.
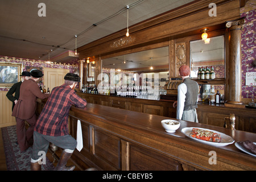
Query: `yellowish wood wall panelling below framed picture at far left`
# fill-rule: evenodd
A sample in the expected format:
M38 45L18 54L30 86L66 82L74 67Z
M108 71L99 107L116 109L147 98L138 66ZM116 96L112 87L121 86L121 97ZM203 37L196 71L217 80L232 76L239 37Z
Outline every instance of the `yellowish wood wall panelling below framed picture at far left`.
M16 125L15 117L11 116L13 102L6 97L6 93L7 91L0 92L0 127Z

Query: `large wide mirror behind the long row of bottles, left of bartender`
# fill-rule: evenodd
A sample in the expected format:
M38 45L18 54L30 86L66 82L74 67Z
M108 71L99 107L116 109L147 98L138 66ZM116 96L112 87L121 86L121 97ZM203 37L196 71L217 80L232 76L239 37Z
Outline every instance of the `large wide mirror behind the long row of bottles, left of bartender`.
M168 84L169 78L168 59L168 46L104 59L102 77L105 86L102 85L102 88L109 85L110 92L113 89L111 87L114 87L117 95L135 94L137 98L159 100L160 94L166 94L164 86ZM134 92L128 93L131 89Z

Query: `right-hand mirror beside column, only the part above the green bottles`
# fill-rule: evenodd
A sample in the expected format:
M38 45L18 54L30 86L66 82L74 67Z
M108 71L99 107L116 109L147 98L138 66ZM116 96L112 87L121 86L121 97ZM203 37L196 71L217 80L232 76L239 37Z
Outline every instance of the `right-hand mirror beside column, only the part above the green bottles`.
M197 78L199 68L213 67L216 78L225 77L225 48L224 36L209 38L209 43L204 40L190 42L191 77Z

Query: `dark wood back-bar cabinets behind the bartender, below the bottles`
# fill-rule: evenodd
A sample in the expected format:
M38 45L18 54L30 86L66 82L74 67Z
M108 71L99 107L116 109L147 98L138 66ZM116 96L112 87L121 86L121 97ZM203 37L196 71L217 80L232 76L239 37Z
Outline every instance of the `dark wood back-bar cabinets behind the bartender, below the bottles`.
M174 101L171 100L144 100L139 98L114 97L100 94L88 94L77 92L77 94L85 98L85 100L92 104L100 104L111 107L118 107L139 113L155 114L164 117L176 118L176 108L172 107ZM248 131L256 133L256 115L255 109L249 108L232 108L226 107L224 104L205 104L199 102L197 107L197 117L199 123L224 126L224 118L229 117L230 114L236 116L236 130Z

